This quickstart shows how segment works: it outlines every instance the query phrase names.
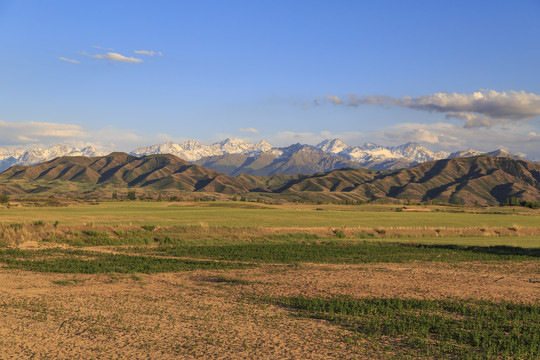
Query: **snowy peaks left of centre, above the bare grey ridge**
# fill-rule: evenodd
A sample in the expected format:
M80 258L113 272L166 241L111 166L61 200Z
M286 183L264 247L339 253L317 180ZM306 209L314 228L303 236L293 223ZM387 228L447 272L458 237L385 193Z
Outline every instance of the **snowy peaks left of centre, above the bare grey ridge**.
M269 151L273 147L264 140L252 144L243 139L227 138L212 145L202 145L198 141L189 140L182 144L167 142L164 144L142 147L133 150L133 155L172 154L187 161L196 161L203 157L224 154L251 154Z

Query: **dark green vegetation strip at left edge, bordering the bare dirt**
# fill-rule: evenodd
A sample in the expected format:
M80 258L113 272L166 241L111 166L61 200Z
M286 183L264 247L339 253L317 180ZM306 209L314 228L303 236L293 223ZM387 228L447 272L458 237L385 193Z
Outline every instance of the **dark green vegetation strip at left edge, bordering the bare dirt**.
M196 269L238 269L253 266L234 262L156 258L65 249L34 251L2 249L0 250L0 264L8 268L71 274L150 274Z

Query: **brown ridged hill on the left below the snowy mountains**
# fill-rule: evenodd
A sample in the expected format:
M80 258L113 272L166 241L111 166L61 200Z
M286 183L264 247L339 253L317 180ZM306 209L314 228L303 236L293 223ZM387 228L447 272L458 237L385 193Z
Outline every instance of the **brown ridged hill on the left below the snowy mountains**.
M7 181L75 182L95 186L149 187L235 194L253 188L249 183L173 155L131 156L112 153L96 158L61 157L34 166L14 166L0 175Z

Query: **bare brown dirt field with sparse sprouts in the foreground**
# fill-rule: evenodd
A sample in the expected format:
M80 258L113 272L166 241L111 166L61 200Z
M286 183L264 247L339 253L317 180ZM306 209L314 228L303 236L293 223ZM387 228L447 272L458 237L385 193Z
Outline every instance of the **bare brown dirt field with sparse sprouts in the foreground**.
M347 341L350 331L264 298L538 304L539 273L538 262L262 265L152 275L0 269L0 359L379 358L373 347Z

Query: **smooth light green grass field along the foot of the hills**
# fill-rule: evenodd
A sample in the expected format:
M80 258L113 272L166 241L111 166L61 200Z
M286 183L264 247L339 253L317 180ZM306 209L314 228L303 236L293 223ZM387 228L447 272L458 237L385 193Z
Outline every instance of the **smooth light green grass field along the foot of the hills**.
M0 222L43 220L67 225L202 224L231 227L540 227L540 211L527 209L478 208L465 212L460 208L433 207L431 210L439 211L396 212L396 208L395 205L103 202L99 205L3 208Z

